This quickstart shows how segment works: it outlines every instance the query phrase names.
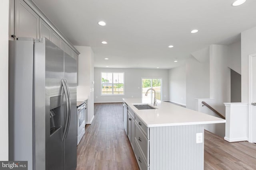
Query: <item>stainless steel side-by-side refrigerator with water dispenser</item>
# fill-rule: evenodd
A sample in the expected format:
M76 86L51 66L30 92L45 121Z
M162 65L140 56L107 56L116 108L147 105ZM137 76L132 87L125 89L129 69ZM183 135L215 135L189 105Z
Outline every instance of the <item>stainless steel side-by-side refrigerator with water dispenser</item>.
M9 160L76 169L76 60L43 38L9 41Z

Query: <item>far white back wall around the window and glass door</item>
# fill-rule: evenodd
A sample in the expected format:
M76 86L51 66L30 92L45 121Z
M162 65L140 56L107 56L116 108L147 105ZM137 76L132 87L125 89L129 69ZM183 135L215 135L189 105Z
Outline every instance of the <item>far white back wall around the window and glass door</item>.
M101 96L101 72L124 72L123 96ZM122 102L122 98L141 98L141 78L162 78L162 100L169 100L167 69L94 68L94 102Z

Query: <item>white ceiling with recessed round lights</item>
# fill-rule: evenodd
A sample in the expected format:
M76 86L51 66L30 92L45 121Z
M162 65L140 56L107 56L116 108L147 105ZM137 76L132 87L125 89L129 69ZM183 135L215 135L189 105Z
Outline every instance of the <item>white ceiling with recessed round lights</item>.
M256 0L236 7L234 0L33 1L73 45L92 47L95 67L173 68L208 45L240 41L256 26Z

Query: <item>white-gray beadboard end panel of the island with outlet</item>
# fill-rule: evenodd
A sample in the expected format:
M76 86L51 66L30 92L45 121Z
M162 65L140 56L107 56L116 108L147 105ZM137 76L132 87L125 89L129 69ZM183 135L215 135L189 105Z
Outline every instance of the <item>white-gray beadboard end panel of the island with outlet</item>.
M196 133L203 143L196 143ZM204 125L150 127L150 170L203 170Z

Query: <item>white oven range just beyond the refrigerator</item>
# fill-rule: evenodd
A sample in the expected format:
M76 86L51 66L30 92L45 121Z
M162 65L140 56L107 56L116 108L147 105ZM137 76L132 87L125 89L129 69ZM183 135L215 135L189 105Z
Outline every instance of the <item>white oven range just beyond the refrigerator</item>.
M85 133L85 109L87 104L83 102L77 108L77 145ZM87 111L87 110L86 110Z

